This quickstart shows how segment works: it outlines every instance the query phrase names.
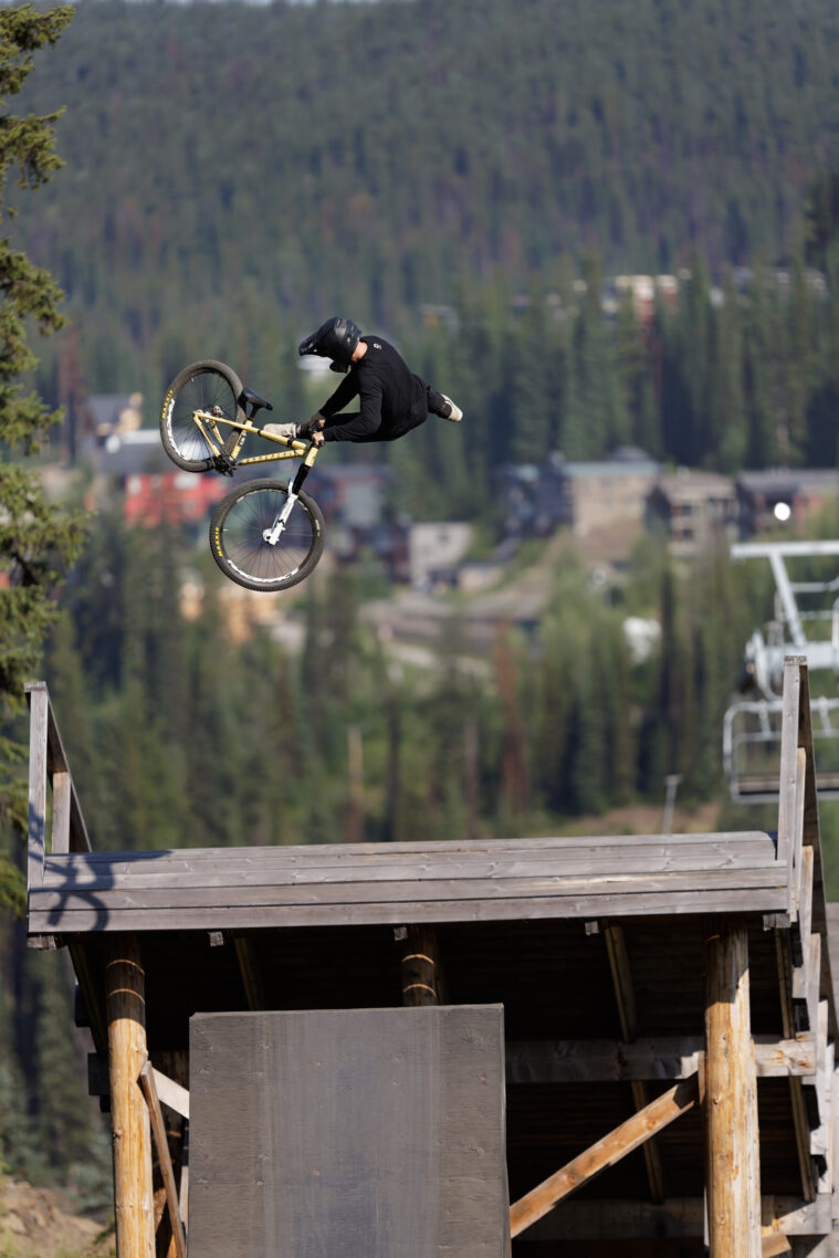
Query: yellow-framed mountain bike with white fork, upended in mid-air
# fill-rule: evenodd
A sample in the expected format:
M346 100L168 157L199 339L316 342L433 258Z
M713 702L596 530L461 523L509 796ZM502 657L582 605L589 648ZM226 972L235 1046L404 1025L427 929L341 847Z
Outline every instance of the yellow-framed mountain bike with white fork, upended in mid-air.
M160 435L185 472L233 476L236 468L302 459L292 481L252 479L231 489L210 520L210 551L225 576L247 590L288 590L323 554L323 515L303 491L319 447L264 433L257 421L260 410L273 406L226 364L205 359L184 367L169 386ZM245 442L254 435L287 448L245 458Z

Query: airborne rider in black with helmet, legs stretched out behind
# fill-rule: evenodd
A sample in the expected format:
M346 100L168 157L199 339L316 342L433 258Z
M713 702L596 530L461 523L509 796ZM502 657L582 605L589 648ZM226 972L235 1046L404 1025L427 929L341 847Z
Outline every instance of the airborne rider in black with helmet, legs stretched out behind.
M424 424L429 414L452 423L463 419L460 408L414 375L392 345L381 336L362 336L352 320L327 320L301 342L297 352L301 357L317 353L331 359L332 370L346 372L346 380L307 424L265 424L263 433L303 437L314 445L395 442ZM353 398L358 398L360 410L338 414Z

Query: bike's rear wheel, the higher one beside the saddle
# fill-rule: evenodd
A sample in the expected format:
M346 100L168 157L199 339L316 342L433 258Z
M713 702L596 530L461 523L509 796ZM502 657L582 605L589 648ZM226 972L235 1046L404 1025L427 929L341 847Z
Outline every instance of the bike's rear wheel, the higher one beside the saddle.
M192 415L196 410L208 411L218 406L220 418L244 424L240 396L242 381L224 362L205 359L184 367L169 386L160 415L160 437L172 463L185 472L209 472L213 468L213 449L201 437ZM235 439L236 431L235 428L219 425L223 443L231 437Z

